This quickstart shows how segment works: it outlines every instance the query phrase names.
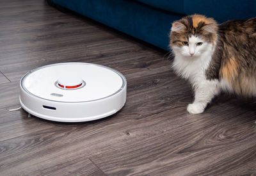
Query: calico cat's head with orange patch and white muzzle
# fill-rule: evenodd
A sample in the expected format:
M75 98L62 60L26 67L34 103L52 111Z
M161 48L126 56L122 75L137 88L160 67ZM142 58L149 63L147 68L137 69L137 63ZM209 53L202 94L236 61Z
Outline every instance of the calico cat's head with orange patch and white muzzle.
M196 58L216 44L216 21L204 15L189 15L173 22L170 47L180 56Z

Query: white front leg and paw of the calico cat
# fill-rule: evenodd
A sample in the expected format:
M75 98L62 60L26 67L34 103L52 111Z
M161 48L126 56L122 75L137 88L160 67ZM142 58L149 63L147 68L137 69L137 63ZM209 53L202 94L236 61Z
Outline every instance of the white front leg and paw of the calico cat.
M195 100L193 104L189 104L187 111L191 114L199 114L204 112L207 104L212 98L220 92L218 81L202 81L195 85Z

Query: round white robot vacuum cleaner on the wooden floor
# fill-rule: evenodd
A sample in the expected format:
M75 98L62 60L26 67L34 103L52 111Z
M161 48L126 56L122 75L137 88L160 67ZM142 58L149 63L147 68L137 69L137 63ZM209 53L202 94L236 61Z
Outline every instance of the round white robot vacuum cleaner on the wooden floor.
M20 80L20 105L47 120L86 122L119 111L126 101L126 87L120 72L102 65L46 65Z

